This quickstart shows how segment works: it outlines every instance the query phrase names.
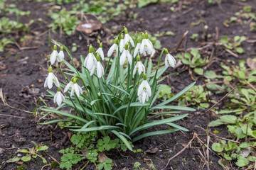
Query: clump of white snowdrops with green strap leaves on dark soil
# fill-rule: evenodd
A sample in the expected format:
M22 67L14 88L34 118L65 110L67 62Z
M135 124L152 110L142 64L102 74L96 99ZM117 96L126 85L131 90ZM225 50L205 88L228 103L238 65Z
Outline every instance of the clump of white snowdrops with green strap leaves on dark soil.
M48 113L63 115L67 119L50 120L41 124L69 122L72 124L68 128L76 132L99 131L104 136L111 132L119 137L130 150L132 150L131 142L144 137L177 130L187 131L186 128L173 122L188 115L177 115L180 111L195 110L167 104L184 94L195 83L190 84L169 100L154 106L154 102L161 91L161 86L158 83L162 79L159 78L169 66L175 67L176 60L164 48L157 65L154 66L149 60L149 55L153 52L154 47L146 32L137 34L133 40L127 28L124 27L107 51L107 57L110 58L105 63L105 67L102 65L105 58L102 42L99 42L100 47L97 50L90 45L87 57L80 57L81 72L78 72L75 67L68 47L60 42L57 43L61 46L60 52L54 45L50 55L51 66L48 77L46 77L45 87L51 89L53 84L58 87L56 93L48 90L49 96L53 97L53 101L58 104L58 107L52 109L42 106L40 109ZM63 49L68 53L73 64L65 61ZM163 53L165 53L165 66L161 67L160 61ZM59 62L58 67L54 65L55 62ZM68 69L62 70L61 64L65 64ZM61 84L58 81L53 73L53 67L57 68L56 72L63 74L66 84ZM67 77L70 76L72 78L68 79ZM61 89L64 89L65 95ZM65 110L68 108L69 113L61 111L62 108ZM176 116L154 120L155 117L166 114L175 114ZM145 133L144 131L156 125L164 124L169 125L170 128L155 132Z

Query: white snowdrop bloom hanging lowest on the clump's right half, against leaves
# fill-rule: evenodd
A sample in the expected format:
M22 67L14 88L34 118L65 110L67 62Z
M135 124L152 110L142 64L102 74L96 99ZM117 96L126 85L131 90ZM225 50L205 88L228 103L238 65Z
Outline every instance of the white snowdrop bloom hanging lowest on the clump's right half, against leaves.
M151 96L151 88L149 83L146 81L146 74L143 74L142 84L139 85L138 93L139 102L145 103L145 101L149 101L149 97Z

